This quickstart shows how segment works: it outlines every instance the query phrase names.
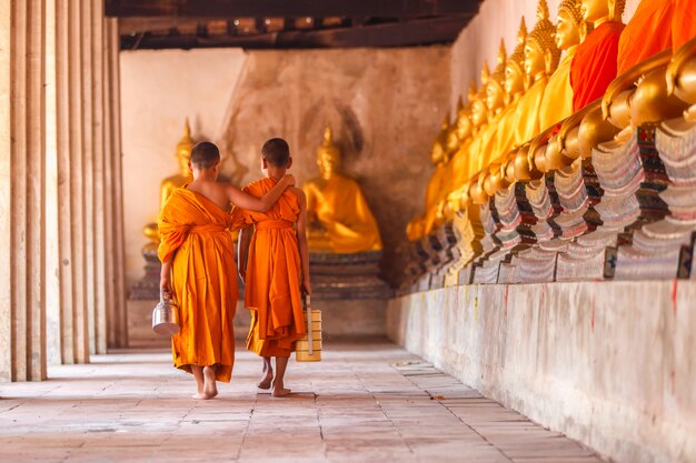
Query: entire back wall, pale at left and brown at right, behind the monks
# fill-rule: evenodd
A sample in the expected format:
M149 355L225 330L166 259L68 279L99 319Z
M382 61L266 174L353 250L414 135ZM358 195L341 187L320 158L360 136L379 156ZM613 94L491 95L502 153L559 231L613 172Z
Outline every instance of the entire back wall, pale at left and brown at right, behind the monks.
M177 172L186 117L195 139L220 144L222 171L238 184L260 175L270 137L290 143L299 181L317 175L315 151L330 122L387 243L385 273L402 266L396 249L421 212L449 100L448 47L122 52L121 81L129 282L142 275L141 229L157 215L161 180Z

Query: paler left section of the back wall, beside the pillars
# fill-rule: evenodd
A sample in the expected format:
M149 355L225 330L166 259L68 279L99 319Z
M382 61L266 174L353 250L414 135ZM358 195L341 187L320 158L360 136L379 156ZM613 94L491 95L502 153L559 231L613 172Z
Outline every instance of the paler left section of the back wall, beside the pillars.
M196 140L220 142L246 60L239 49L120 53L128 286L143 275L142 228L157 219L160 183L179 172L176 147L186 118Z

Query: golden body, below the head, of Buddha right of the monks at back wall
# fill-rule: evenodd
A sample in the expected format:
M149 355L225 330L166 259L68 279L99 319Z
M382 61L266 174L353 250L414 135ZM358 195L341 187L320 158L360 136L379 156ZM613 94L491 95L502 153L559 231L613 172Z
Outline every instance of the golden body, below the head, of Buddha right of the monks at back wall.
M377 221L355 180L336 173L329 180L312 180L302 190L307 210L316 213L328 233L328 249L315 249L311 239L310 249L337 253L381 250Z

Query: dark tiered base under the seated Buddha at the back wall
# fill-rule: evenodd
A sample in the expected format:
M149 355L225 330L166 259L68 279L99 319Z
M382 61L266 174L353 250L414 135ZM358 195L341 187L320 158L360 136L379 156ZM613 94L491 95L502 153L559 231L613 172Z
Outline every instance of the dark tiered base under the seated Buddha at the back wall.
M312 299L390 299L391 288L379 278L381 251L354 254L309 253Z

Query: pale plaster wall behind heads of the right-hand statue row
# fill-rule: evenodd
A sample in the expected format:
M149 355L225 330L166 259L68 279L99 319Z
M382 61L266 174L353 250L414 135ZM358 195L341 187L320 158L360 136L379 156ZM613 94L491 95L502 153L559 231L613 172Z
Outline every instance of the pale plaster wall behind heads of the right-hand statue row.
M556 22L560 0L547 0L551 21ZM624 22L627 22L638 8L640 0L626 0ZM500 38L505 40L508 54L515 48L519 20L524 16L527 30L536 23L538 0L486 0L481 3L476 18L461 31L451 47L451 99L456 108L457 98L466 97L471 79L480 83L480 71L484 61L493 70L500 47Z

